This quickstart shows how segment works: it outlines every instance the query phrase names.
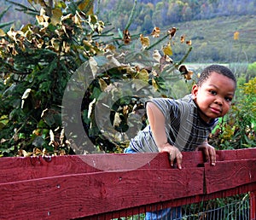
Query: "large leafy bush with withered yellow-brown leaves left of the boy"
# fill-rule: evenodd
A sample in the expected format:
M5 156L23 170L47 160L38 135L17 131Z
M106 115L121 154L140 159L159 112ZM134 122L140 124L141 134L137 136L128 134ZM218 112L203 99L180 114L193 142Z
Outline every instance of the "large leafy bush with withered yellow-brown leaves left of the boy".
M93 80L85 81L83 84L87 86L87 90L81 112L78 114L84 119L84 130L96 148L102 149L103 144L103 150L107 152L121 152L122 149L117 148L117 143L122 145L123 141L108 142L102 138L102 131L95 127L96 118L90 112L90 107L103 90L113 88L114 80L125 82L127 78L139 79L154 90L166 92L168 87L163 76L167 75L174 81L191 78L191 72L186 68L180 68L192 49L189 41L189 49L181 61L172 61L169 57L172 56L172 37L175 35L175 28L167 32L160 32L159 28L155 28L152 35L149 35L155 39L153 43L143 35L136 41L139 35L132 36L128 30L119 32L119 36L114 37L112 29L106 28L104 22L98 20L96 14L92 13L92 1L55 1L53 7L44 1L31 3L44 3L40 11L33 9L33 13L36 13L35 24L27 24L19 31L10 28L9 32L5 33L1 30L4 34L0 38L0 72L3 76L0 79L0 155L73 153L71 146L74 140L67 140L65 136L61 105L67 83L84 63L90 65L95 75ZM133 13L125 26L127 28L131 26ZM133 48L138 45L137 42L141 43L142 49L136 52ZM163 50L154 50L152 58L150 49L164 42L166 45L163 46ZM117 50L129 51L128 47L131 53L127 55ZM148 61L149 69L126 62L126 65L118 65L107 72L94 72L97 68L108 66L111 57L113 63L116 63L115 59L120 57L121 61L129 61L129 55L130 58L132 56L142 59L143 62ZM156 65L152 67L153 60ZM83 72L81 77L86 78L86 74L87 72ZM136 87L139 84L132 86ZM74 95L75 102L77 97L72 92L70 94ZM73 106L73 102L69 103L70 107ZM121 133L125 129L127 117L134 113L135 106L140 105L134 101L133 96L130 96L128 99L120 99L113 106L112 120L116 133ZM75 138L74 136L73 139Z

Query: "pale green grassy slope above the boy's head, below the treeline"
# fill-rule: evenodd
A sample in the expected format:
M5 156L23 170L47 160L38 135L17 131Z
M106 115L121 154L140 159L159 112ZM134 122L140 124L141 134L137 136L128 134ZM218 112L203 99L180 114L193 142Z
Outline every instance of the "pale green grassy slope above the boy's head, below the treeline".
M174 24L180 34L192 40L188 61L256 61L256 15L227 16ZM234 32L239 39L234 40Z

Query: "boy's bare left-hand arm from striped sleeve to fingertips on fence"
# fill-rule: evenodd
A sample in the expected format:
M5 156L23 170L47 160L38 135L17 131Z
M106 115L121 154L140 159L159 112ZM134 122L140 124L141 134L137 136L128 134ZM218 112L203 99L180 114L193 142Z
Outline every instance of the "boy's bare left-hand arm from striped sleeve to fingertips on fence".
M160 109L152 102L148 102L147 115L150 128L153 133L154 142L156 143L160 152L167 152L170 154L171 165L174 164L174 159L177 160L177 168L181 169L182 166L182 153L174 146L167 142L166 129L165 129L165 117Z

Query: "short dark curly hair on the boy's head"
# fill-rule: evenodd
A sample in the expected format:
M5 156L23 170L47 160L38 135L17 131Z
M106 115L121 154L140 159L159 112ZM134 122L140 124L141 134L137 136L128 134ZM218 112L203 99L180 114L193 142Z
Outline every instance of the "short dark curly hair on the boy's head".
M201 86L207 78L211 75L212 72L217 72L221 75L224 75L227 78L232 79L236 84L236 77L233 72L230 71L228 67L224 67L222 65L214 64L206 67L200 75L200 78L198 79L197 85Z

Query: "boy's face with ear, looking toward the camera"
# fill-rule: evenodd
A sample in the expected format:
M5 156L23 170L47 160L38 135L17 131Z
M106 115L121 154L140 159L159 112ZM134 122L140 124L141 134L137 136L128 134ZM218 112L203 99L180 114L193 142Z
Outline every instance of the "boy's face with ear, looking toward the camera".
M201 119L209 123L212 119L228 113L235 90L235 82L217 72L211 72L201 86L194 85L192 96L201 110L199 113Z

